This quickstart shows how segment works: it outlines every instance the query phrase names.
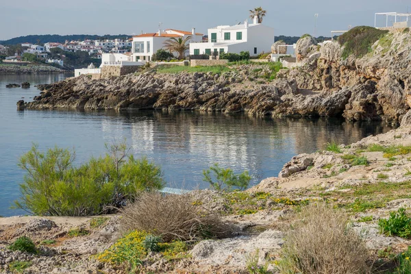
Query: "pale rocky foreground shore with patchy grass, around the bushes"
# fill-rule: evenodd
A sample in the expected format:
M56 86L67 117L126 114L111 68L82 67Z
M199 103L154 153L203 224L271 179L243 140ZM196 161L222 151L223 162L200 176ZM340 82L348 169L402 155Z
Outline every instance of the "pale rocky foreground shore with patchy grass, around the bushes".
M219 212L234 228L233 236L198 242L180 260L153 255L145 262L151 271L147 273L247 273L246 257L256 249L260 262L268 262L275 273L275 260L289 229L288 216L299 206L321 201L349 214L353 229L378 262L384 262L387 252L405 250L410 240L380 234L377 223L392 211L411 208L410 117L408 112L401 127L386 134L332 151L297 155L284 165L279 177L264 179L244 192L190 193L198 206ZM34 240L39 254L8 250L23 235ZM121 235L116 215L2 218L0 271L12 273L12 262L30 261L27 273L123 273L95 259Z

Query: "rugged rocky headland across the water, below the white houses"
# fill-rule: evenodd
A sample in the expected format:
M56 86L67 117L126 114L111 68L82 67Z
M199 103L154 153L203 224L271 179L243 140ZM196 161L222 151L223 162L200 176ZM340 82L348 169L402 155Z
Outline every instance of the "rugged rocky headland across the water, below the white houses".
M297 43L295 69L275 73L264 64L232 65L225 73L156 73L92 80L66 79L41 86L18 108L90 110L202 110L258 116L344 116L398 124L410 109L409 29L391 32L363 58L342 57L343 47L322 47L310 36ZM388 42L389 43L388 43ZM276 78L272 81L273 78Z

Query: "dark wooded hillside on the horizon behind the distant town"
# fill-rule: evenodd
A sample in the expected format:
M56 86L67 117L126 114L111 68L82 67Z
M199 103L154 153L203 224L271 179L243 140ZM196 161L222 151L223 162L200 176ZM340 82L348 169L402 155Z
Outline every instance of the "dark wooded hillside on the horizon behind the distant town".
M24 42L29 42L32 44L45 44L47 42L60 42L64 43L66 40L79 40L83 41L86 39L90 40L103 40L103 39L116 39L116 38L130 38L131 35L119 34L119 35L110 35L106 34L103 36L99 35L88 35L88 34L73 34L73 35L58 35L58 34L46 34L46 35L29 35L29 36L20 36L12 38L10 40L0 41L0 45L17 45Z

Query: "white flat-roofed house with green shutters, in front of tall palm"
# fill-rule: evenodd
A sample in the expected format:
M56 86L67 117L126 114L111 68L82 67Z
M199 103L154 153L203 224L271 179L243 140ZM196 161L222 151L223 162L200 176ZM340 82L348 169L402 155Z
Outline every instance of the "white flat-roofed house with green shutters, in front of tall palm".
M249 51L258 55L262 51L271 52L274 42L274 29L258 23L257 16L253 23L246 20L243 24L223 25L208 29L208 42L190 43L190 55L216 53L240 53Z

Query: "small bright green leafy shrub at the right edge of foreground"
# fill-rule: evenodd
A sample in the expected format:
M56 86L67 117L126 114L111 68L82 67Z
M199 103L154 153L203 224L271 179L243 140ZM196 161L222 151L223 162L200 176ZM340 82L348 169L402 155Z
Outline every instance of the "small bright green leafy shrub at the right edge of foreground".
M388 220L381 219L378 225L382 234L411 238L411 218L407 216L405 208L391 212Z

